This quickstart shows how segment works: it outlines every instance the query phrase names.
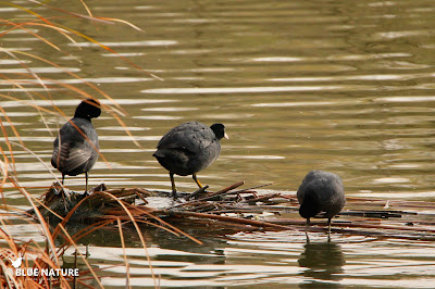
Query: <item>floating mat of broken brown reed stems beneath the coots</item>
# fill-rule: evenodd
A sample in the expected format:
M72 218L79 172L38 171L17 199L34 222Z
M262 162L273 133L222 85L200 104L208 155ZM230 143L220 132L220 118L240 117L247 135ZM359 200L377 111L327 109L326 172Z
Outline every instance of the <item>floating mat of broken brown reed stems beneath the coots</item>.
M148 206L146 203L135 205L132 202L132 198L138 196L162 196L162 191L148 191L146 189L112 189L110 191L115 199L105 198L102 192L96 193L96 196L87 197L88 200L92 200L98 209L100 203L104 206L103 215L98 219L123 219L130 221L130 216L125 214L125 209L120 206L120 202L128 208L128 212L134 216L137 222L145 225L157 226L173 231L174 234L183 234L176 229L173 224L186 224L190 226L196 224L198 226L213 225L217 228L217 231L225 229L229 230L256 230L256 229L268 229L268 230L304 230L306 219L301 217L293 218L270 218L270 219L257 219L247 217L236 217L222 215L226 213L233 214L262 214L264 212L270 213L289 213L297 214L299 205L295 194L281 194L278 192L272 192L268 194L258 194L252 191L252 188L234 191L234 188L241 186L244 183L239 181L232 186L228 186L220 191L210 193L198 200L188 201L182 204L171 206L165 210L157 210ZM266 186L266 185L262 185ZM203 189L197 190L201 193ZM250 192L253 196L248 196L244 201L238 202L236 196L243 192ZM144 193L144 194L142 194ZM194 192L196 193L196 192ZM100 197L98 196L100 194ZM191 196L191 194L190 194ZM190 197L189 196L189 197ZM216 197L223 197L216 200ZM250 199L249 199L250 198ZM146 199L142 199L146 202ZM264 204L257 205L257 202L264 202ZM384 206L386 200L381 199L363 199L363 198L349 198L347 203L347 210L343 211L338 219L333 221L333 231L341 233L345 235L363 235L368 237L376 238L399 238L399 239L421 239L421 240L433 240L435 239L435 221L432 213L419 213L413 212L410 208L417 210L421 208L435 208L430 203L412 201L412 205L408 202L402 201L389 201L389 210L382 210L380 206ZM278 204L278 205L276 205ZM369 210L350 210L349 208L365 208ZM402 206L401 206L402 205ZM397 210L390 210L390 208ZM407 206L407 211L400 211L403 206ZM172 210L176 209L176 210ZM373 209L373 210L370 210ZM100 210L100 209L98 209ZM207 212L207 213L206 213ZM70 216L66 216L67 219ZM412 217L412 219L410 219ZM422 221L419 219L422 218ZM160 223L160 225L157 224ZM326 222L315 222L313 226L309 228L311 231L325 231L324 226Z

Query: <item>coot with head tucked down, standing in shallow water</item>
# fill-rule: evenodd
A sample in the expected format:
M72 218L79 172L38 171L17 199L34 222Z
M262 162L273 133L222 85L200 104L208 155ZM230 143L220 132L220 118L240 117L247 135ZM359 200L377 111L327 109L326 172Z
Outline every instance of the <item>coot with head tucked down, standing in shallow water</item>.
M340 177L330 172L311 171L303 178L297 197L300 204L299 214L307 218L306 234L310 217L321 216L327 218L330 236L332 218L341 212L346 204L345 188Z

